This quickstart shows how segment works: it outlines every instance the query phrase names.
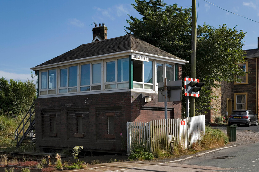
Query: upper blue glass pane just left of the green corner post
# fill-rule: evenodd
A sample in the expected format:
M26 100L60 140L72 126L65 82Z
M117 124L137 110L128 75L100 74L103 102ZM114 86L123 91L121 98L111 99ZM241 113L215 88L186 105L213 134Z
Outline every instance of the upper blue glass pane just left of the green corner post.
M129 59L117 60L117 82L129 80Z

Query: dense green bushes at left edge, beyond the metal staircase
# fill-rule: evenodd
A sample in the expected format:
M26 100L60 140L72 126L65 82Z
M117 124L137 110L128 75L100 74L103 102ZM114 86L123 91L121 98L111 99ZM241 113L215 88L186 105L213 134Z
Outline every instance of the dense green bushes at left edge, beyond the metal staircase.
M36 99L36 87L33 81L6 80L0 78L0 111L2 114L16 117L24 115Z

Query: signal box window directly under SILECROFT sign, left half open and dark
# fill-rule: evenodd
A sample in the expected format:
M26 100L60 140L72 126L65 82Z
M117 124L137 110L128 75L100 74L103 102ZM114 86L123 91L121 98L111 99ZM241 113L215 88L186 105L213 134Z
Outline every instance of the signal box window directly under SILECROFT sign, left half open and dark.
M153 89L153 62L133 60L133 87Z

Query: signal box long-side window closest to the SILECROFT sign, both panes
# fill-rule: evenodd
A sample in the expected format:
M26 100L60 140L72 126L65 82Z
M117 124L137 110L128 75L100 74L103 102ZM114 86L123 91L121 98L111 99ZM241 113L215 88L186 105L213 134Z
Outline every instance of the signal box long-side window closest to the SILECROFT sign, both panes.
M105 63L105 89L128 88L128 83L128 58L118 59L117 61L107 61Z

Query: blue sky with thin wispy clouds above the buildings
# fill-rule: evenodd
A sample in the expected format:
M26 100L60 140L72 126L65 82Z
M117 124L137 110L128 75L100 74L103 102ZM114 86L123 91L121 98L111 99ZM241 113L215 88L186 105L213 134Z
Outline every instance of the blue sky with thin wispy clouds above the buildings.
M196 0L197 23L243 29L243 49L258 47L259 0ZM191 0L165 0L190 7ZM125 35L127 14L140 18L134 0L0 0L0 77L25 81L31 67L92 41L92 22L105 23L108 39ZM199 6L198 6L199 5Z

